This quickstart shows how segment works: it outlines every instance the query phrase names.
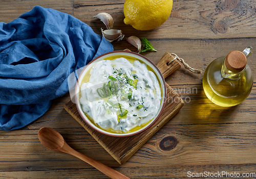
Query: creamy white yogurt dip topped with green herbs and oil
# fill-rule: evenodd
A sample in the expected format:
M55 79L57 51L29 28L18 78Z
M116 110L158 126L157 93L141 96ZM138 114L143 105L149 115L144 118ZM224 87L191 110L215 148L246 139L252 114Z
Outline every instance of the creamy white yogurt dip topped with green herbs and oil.
M145 63L121 57L95 62L89 72L80 87L80 104L96 126L129 133L157 117L160 84Z

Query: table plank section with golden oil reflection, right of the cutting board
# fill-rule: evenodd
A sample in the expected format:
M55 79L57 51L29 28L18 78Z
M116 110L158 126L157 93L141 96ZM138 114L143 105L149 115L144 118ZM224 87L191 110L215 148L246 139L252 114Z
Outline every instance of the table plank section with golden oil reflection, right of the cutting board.
M223 108L212 103L204 94L202 84L173 85L173 89L181 96L185 105L171 120L172 124L215 123L221 125L222 123L255 122L255 86L243 103L230 108Z

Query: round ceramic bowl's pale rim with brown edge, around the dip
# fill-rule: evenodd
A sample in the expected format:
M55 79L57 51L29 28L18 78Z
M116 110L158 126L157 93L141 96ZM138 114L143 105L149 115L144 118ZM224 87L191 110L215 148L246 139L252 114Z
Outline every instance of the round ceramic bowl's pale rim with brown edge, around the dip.
M124 134L120 134L120 133L111 133L111 132L107 132L105 130L100 129L99 127L97 127L82 111L81 108L81 104L80 104L80 100L79 100L79 94L80 94L80 87L82 84L82 80L84 78L84 76L86 75L87 71L94 65L94 62L98 62L104 59L108 59L111 58L113 56L129 56L131 58L136 58L138 60L140 60L141 62L145 63L146 65L150 66L150 68L154 71L154 73L156 74L159 83L160 83L160 87L161 87L161 93L162 93L162 100L161 100L161 105L160 108L158 110L158 113L156 115L155 118L153 118L147 125L143 126L141 129L131 132L131 133L124 133ZM76 107L77 110L81 116L81 118L89 125L91 126L95 131L104 134L104 135L108 135L108 136L112 136L112 137L128 137L128 136L133 136L136 134L139 134L145 130L147 130L149 127L151 127L160 117L161 113L163 112L164 106L165 106L165 101L166 101L166 85L165 85L165 81L163 78L162 73L160 72L160 70L157 68L157 66L150 61L149 59L147 59L146 57L134 53L134 52L128 52L128 51L114 51L114 52L109 52L109 53L105 53L101 56L98 56L97 58L95 58L94 60L92 60L86 67L83 68L82 72L79 75L79 78L77 80L76 83L76 88L75 88L75 103L76 103Z

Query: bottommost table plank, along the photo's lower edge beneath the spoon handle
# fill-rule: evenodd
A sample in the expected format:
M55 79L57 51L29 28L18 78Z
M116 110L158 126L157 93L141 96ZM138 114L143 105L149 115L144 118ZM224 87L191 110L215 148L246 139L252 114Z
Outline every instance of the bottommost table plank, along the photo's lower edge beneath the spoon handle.
M138 172L134 171L138 169ZM161 175L161 178L188 178L188 173L194 172L204 172L209 174L215 174L218 172L226 173L239 173L241 176L243 173L247 174L250 177L232 177L232 178L253 178L255 176L255 165L198 165L198 166L188 166L188 167L179 167L179 166L169 166L169 167L136 167L132 168L129 171L121 170L122 173L127 173L126 175L131 178L158 178L157 175ZM98 173L95 170L90 169L70 169L66 170L46 170L46 171L5 171L0 172L0 176L11 179L39 179L44 176L44 178L106 178L103 174ZM228 175L227 175L228 176ZM226 177L224 174L223 177ZM197 177L205 178L205 177Z

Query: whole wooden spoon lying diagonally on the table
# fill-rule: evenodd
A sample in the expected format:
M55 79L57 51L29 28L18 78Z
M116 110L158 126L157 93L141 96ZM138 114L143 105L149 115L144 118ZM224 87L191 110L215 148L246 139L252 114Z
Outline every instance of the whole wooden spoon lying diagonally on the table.
M87 162L88 164L92 165L93 167L97 168L99 171L101 171L102 173L106 174L107 176L113 179L122 179L122 178L130 179L129 177L124 176L122 173L119 173L118 171L94 159L91 159L90 157L84 156L80 152L74 150L66 143L64 138L51 127L42 127L38 131L38 138L42 143L42 145L44 145L45 147L51 150L62 151L72 156L75 156L83 160L84 162Z

